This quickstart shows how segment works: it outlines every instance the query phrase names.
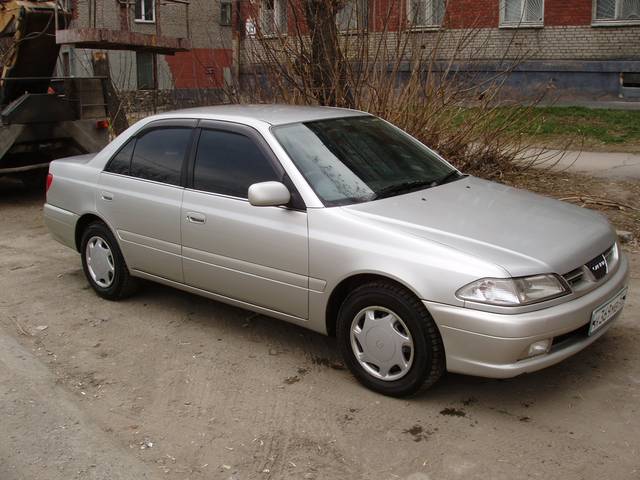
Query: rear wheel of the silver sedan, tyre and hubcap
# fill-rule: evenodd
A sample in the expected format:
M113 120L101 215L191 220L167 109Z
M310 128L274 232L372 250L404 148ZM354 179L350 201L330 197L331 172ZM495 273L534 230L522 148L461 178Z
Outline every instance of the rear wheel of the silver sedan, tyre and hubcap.
M82 233L82 269L91 287L107 300L128 297L137 287L111 230L100 222Z

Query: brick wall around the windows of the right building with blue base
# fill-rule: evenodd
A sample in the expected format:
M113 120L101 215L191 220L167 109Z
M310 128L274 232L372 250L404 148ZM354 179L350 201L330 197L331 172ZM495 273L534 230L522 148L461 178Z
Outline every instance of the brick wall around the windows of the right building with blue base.
M258 2L243 2L241 25L249 12L254 18L259 15L255 11ZM491 76L505 65L517 64L507 82L514 94L552 85L560 96L589 98L624 93L621 74L640 72L640 22L592 25L593 0L545 0L544 25L528 28L502 27L500 0L449 0L443 28L419 30L406 24L405 0L370 0L368 5L367 35L341 37L354 59L361 52L358 42L363 38L369 42L369 51L386 42L387 51L393 52L398 42L406 40L408 59L429 57L437 49L437 58L455 60L459 71ZM243 38L240 72L251 70L255 59L263 58L256 52L265 45L277 51L283 41L239 34ZM284 41L294 43L295 39Z

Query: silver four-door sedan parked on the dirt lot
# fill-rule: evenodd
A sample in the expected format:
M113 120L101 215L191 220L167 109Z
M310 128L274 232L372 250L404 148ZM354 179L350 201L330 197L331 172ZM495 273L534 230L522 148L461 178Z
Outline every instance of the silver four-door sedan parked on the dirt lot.
M46 224L98 295L143 278L336 336L387 395L555 364L626 297L604 217L464 175L363 112L156 115L53 162L47 190Z

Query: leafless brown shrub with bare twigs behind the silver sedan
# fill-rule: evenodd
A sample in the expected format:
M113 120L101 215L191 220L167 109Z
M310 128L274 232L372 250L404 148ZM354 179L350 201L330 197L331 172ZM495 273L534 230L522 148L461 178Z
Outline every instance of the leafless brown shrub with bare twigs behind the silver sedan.
M288 21L258 21L255 35L243 42L242 81L228 86L228 100L370 112L461 170L485 178L558 161L532 150L517 128L536 120L536 106L546 92L524 104L508 103L503 95L509 75L532 52L514 48L513 41L497 51L490 34L479 28L412 29L393 14L397 2L378 15L381 28L370 32L356 10L345 21L344 10L339 13L344 5L341 0L290 0ZM336 15L353 28L340 32ZM251 16L265 20L257 9ZM494 74L459 68L491 57L491 49L499 55Z

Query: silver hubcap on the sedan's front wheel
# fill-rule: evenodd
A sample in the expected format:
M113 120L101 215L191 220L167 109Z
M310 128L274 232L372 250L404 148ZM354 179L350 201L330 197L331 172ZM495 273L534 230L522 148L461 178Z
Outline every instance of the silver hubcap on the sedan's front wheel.
M367 373L385 381L404 377L413 364L413 339L391 310L367 307L351 322L351 349Z

